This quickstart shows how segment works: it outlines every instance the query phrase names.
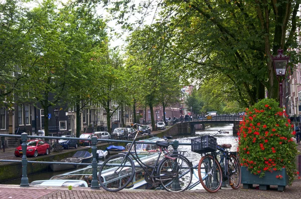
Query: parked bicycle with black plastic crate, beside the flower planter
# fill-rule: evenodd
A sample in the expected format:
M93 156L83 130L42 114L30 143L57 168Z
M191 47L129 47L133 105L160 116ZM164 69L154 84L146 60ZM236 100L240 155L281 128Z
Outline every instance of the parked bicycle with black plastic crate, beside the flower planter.
M235 152L230 151L231 144L217 145L215 137L204 135L191 139L191 147L192 151L202 154L198 174L201 184L207 191L212 193L218 191L222 181L227 180L233 189L239 188L240 163Z

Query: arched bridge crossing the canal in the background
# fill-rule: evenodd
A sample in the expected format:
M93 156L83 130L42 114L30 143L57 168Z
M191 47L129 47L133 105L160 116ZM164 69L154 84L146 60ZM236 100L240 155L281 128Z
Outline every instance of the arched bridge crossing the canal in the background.
M233 134L237 134L239 129L239 122L242 121L240 115L217 115L209 116L202 119L188 121L190 126L190 132L195 133L195 125L202 124L202 129L205 129L207 123L233 123Z

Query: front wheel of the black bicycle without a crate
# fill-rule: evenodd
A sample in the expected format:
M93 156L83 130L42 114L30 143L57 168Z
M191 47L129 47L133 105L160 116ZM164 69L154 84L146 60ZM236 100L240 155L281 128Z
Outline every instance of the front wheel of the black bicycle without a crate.
M116 154L106 159L98 173L99 183L107 191L118 191L133 179L135 167L133 160L125 154Z

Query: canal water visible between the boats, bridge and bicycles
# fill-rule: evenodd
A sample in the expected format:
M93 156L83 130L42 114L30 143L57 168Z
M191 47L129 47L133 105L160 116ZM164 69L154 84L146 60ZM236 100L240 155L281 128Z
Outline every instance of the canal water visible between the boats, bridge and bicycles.
M238 138L237 136L233 136L232 133L232 127L233 124L215 124L214 126L206 126L205 130L196 130L196 134L193 135L181 135L181 136L174 136L173 140L178 140L180 143L191 143L191 139L203 135L213 135L218 130L222 131L229 131L229 134L225 133L218 133L214 137L217 138L217 143L218 144L223 144L223 143L231 143L232 144L232 151L236 151L236 148L238 146ZM178 150L184 150L185 156L192 161L193 165L196 165L199 163L199 160L201 159L201 154L195 153L191 151L191 146L190 145L180 145ZM34 181L34 180L41 180L41 179L49 179L54 175L65 173L65 172L70 172L70 170L66 171L60 171L60 172L53 172L50 168L48 171L40 172L40 173L35 173L28 175L29 183ZM195 174L193 176L193 182L198 181L198 173L197 170L195 170ZM16 179L16 180L11 180L5 182L7 184L21 184L21 178ZM195 189L203 189L202 185L199 184L195 187Z

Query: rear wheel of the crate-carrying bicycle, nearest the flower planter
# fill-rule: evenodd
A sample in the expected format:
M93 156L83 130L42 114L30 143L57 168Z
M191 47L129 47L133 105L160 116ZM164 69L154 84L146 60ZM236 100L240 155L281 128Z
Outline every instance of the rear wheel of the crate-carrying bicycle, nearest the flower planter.
M237 189L241 182L241 172L239 161L236 155L230 154L228 159L228 176L229 184L232 188Z

